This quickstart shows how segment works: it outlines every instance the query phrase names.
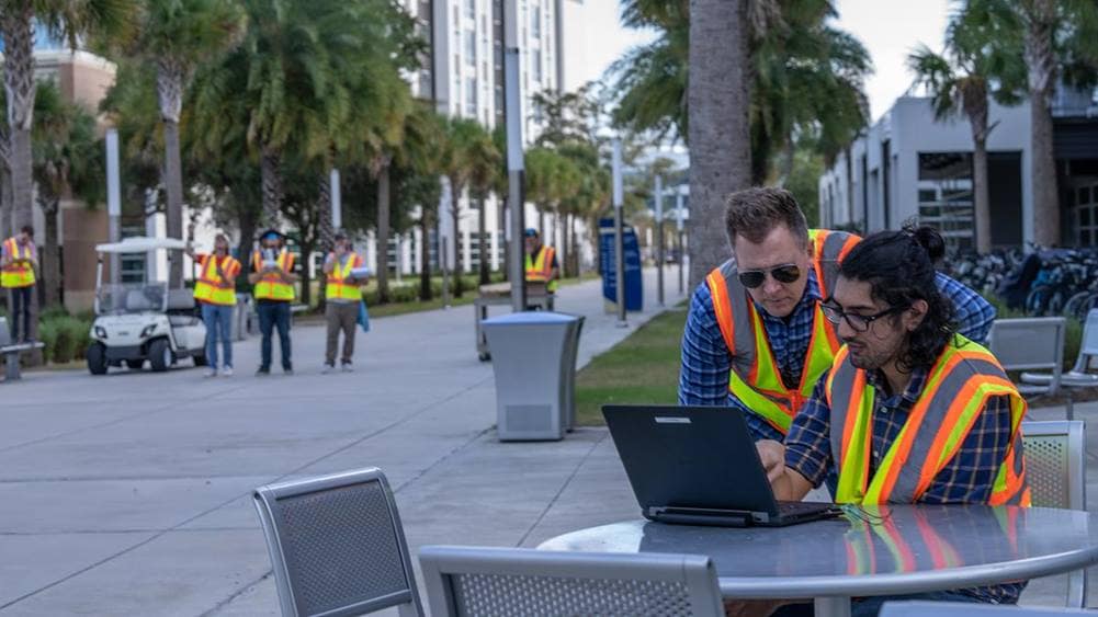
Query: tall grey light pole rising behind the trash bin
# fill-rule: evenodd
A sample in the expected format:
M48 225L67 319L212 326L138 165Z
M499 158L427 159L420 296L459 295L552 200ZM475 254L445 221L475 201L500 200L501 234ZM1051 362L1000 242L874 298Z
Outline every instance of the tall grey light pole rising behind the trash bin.
M511 238L507 244L507 278L511 281L511 310L526 310L526 198L523 190L523 117L519 101L518 7L516 0L505 0L504 15L504 121L507 130L507 205L511 210Z

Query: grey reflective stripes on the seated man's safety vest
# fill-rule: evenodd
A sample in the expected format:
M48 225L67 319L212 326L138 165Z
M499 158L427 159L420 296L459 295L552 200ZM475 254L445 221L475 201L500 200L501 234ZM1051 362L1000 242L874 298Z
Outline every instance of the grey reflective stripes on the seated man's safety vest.
M963 347L961 348L964 349ZM930 370L930 374L934 373L938 368L935 362L934 368ZM833 368L836 371L834 379L831 382L831 455L836 460L836 469L842 470L842 461L845 456L842 447L842 434L843 428L847 426L847 410L850 407L850 400L853 396L853 385L854 375L858 369L850 363L850 356L848 355L840 367ZM922 467L927 461L927 457L930 453L930 448L938 437L939 430L942 429L942 424L945 422L945 416L950 411L950 406L957 399L961 390L964 389L971 380L984 375L999 377L1006 379L1006 374L1002 372L997 364L988 362L987 360L966 358L961 360L953 367L953 370L949 374L942 378L941 384L938 388L938 393L934 399L930 402L927 407L927 413L922 416L922 422L919 426L908 427L907 430L917 430L915 437L915 444L911 446L911 450L907 456L906 461L899 461L900 469L899 474L896 476L896 484L888 496L888 502L890 503L912 503L915 501L915 492L919 486L919 478L922 473ZM866 385L866 388L870 388ZM920 394L919 401L926 392ZM918 404L918 403L916 403ZM874 410L876 410L876 401L874 401ZM872 422L872 420L871 420ZM871 425L872 426L872 425ZM963 440L963 438L962 438ZM889 444L890 448L892 445ZM882 450L879 452L879 459L884 460L887 450ZM871 459L872 460L872 459ZM879 463L881 461L875 461ZM1021 461L1017 461L1018 465ZM872 470L876 473L876 469ZM870 482L873 481L873 475L870 475Z

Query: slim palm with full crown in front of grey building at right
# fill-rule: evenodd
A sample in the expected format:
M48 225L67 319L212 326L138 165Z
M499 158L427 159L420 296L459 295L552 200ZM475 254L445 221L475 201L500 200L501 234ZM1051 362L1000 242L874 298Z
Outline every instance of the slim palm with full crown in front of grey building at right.
M963 114L972 130L972 187L976 220L976 250L991 250L991 204L987 183L988 96L999 102L1013 103L1011 92L1017 75L1010 75L1018 63L998 54L988 45L987 32L981 31L959 12L950 21L945 35L945 54L935 54L926 45L908 56L908 67L926 86L934 115L944 120Z

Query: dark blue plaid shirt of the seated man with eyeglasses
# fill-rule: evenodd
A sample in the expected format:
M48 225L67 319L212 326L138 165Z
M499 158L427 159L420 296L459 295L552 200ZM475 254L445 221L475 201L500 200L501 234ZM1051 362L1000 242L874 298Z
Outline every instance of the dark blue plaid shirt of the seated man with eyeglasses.
M873 451L870 473L877 469L881 459L899 435L908 413L918 401L927 383L929 369L911 371L907 389L886 396L888 388L879 371L866 374L877 396L873 405ZM834 457L831 452L831 410L825 395L825 374L816 384L811 397L793 418L785 438L785 465L804 475L814 486L825 480L834 494L837 479ZM991 496L995 476L1010 446L1010 399L993 396L984 405L972 429L961 444L956 456L934 476L927 492L919 497L927 504L986 504ZM1009 583L990 587L957 590L959 593L981 602L1015 604L1026 583Z

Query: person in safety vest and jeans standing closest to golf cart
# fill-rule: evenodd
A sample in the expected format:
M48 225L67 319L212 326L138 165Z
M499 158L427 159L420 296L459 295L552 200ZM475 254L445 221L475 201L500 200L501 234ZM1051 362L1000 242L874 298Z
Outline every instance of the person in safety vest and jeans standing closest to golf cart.
M194 251L187 255L195 259ZM236 277L240 273L240 262L228 254L228 238L217 234L213 239L213 253L200 255L199 280L194 283L194 300L202 306L202 323L206 326L206 377L217 377L219 360L221 374L233 374L233 313L236 307ZM217 357L217 343L222 345L222 357Z

